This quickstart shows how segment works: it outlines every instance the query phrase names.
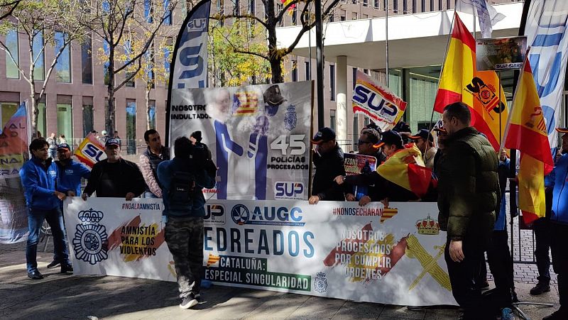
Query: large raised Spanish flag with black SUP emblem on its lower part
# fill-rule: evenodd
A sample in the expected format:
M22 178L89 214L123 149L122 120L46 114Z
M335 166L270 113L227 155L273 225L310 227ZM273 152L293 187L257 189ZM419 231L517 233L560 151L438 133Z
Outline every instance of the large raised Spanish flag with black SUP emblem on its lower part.
M441 114L445 106L459 101L470 108L471 126L498 151L508 116L505 93L494 71L476 70L475 40L455 13L434 110Z

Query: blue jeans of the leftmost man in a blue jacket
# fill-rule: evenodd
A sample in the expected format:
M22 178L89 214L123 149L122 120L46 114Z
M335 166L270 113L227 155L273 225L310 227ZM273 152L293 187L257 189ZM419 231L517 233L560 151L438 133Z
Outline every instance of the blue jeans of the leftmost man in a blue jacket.
M67 236L63 226L63 214L60 207L50 210L28 208L28 243L26 245L26 266L28 272L38 270L38 262L35 260L38 252L41 225L43 220L48 221L53 235L53 247L55 255L60 257L61 264L71 265L69 251L67 250Z

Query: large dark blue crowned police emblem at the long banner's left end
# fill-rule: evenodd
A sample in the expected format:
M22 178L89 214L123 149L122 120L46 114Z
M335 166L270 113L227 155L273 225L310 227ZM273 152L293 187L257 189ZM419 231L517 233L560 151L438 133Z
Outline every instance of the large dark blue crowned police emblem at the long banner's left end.
M78 217L82 224L77 224L75 238L73 238L73 250L75 257L84 262L95 265L109 258L109 236L107 228L99 224L104 214L102 211L89 210L79 211Z

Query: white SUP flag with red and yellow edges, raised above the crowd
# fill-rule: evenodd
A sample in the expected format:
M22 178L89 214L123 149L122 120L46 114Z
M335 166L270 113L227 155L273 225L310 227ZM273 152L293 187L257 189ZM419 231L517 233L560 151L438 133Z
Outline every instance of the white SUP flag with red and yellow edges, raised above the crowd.
M388 131L402 118L406 102L395 96L361 71L357 71L353 89L353 113L373 119L381 130Z

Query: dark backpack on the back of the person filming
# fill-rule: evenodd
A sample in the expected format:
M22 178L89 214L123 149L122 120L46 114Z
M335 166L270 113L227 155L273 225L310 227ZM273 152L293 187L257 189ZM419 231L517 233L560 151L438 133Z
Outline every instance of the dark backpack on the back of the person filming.
M168 200L170 209L185 211L192 209L195 192L195 177L191 172L175 171L170 182Z

